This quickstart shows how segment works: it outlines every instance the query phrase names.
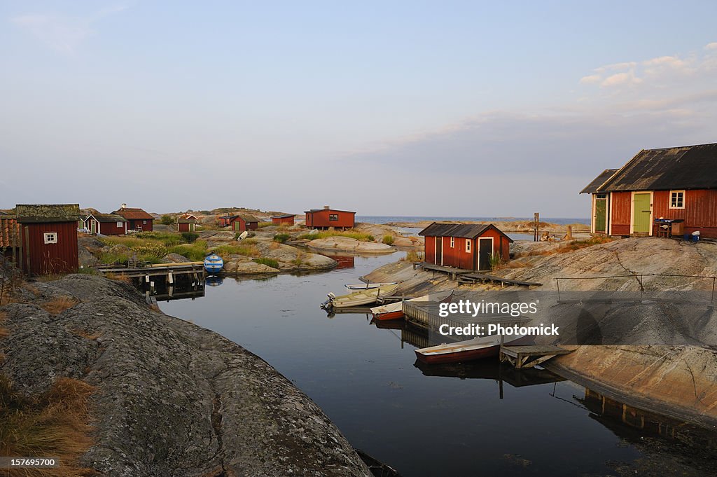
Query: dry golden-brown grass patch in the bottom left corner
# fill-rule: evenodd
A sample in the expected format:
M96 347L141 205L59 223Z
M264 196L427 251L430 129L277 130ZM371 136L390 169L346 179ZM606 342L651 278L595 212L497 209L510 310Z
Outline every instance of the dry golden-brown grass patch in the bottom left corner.
M62 465L47 469L12 469L4 476L97 475L78 463L92 445L88 401L95 388L60 377L49 392L30 400L0 375L0 455L57 457Z

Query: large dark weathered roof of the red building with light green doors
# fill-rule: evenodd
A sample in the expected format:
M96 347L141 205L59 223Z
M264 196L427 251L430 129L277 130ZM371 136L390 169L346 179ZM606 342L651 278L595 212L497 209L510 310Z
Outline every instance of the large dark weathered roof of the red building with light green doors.
M717 189L717 143L643 149L598 192Z

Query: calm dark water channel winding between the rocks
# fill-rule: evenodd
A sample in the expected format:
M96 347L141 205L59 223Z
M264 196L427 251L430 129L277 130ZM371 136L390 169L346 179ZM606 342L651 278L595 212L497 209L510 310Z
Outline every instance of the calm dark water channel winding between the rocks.
M670 429L660 418L652 423L634 410L626 418L622 405L544 370L516 374L493 361L419 368L412 343L420 334L378 329L364 314L329 318L319 309L326 293L343 293L345 283L401 253L344 257L343 268L315 275L224 278L201 298L160 308L261 356L354 447L404 477L622 476L637 468L637 475L653 475L642 469L655 463L654 475L714 475L706 473L715 469L711 435L701 435L695 452L658 436Z

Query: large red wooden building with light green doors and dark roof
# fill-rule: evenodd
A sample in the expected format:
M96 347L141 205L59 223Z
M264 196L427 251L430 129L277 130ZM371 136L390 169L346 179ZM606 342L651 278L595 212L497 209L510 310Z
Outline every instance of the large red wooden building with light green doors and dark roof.
M663 225L655 219L667 219L684 233L717 237L717 143L643 149L580 193L591 194L595 234L655 235Z

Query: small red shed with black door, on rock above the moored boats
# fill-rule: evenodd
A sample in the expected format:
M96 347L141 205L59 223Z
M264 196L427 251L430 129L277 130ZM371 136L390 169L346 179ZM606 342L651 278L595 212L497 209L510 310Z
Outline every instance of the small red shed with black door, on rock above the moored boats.
M418 235L426 237L427 263L465 270L490 270L490 255L508 260L513 239L493 224L439 224L433 222Z

